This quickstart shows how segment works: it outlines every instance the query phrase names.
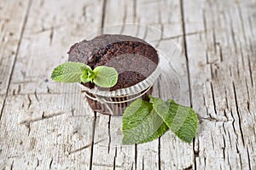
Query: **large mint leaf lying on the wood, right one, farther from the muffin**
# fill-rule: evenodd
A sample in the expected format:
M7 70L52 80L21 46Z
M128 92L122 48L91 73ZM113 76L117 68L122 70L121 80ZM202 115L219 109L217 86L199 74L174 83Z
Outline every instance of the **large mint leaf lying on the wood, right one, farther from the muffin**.
M164 102L162 99L153 98L153 108L166 122L166 125L179 139L191 143L195 138L198 127L198 118L193 109L176 104L172 99Z

